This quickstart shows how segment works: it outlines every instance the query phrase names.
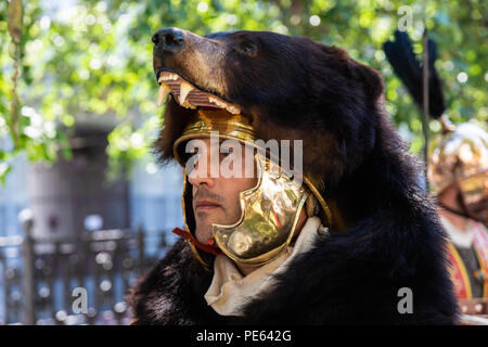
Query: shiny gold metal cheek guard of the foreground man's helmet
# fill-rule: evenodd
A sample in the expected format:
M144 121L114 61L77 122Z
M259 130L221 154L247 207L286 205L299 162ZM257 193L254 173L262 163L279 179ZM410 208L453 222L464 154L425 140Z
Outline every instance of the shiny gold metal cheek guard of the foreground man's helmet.
M219 248L234 261L251 266L271 261L286 248L309 194L261 154L255 155L255 163L258 183L240 193L239 221L231 226L213 224Z

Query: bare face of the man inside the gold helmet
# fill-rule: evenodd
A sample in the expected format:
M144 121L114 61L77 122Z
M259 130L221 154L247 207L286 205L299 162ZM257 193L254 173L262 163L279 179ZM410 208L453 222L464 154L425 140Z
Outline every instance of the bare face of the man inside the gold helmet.
M234 164L241 163L241 170L232 177L226 178L222 175L210 177L215 166L220 167L222 160L230 154L219 154L218 160L210 160L210 140L202 139L206 146L205 151L200 152L195 163L194 170L189 175L189 182L192 184L193 192L193 214L195 216L195 235L202 243L207 243L213 237L211 224L233 224L241 218L241 206L239 194L257 184L257 177L245 177L245 151L242 145L243 155L232 157L229 160L229 169L235 172ZM218 153L218 150L217 150ZM229 159L229 158L228 158ZM206 163L206 165L204 165ZM214 165L214 168L213 168ZM202 166L205 169L202 170Z

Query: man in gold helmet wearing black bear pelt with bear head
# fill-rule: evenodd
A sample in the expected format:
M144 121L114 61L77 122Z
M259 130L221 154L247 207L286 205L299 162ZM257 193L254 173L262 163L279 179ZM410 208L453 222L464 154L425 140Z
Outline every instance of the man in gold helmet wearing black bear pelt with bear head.
M136 324L457 321L444 231L376 72L267 31L153 42L184 229L132 288Z

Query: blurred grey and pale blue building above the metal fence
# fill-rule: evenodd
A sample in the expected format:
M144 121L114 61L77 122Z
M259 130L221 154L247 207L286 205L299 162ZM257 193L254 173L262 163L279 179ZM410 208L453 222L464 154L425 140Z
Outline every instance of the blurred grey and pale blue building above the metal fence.
M106 137L105 137L106 139ZM105 181L106 155L95 140L73 160L52 166L17 156L0 185L0 236L22 234L18 214L34 213L34 235L64 235L92 229L163 231L182 226L181 169L134 163L129 179Z

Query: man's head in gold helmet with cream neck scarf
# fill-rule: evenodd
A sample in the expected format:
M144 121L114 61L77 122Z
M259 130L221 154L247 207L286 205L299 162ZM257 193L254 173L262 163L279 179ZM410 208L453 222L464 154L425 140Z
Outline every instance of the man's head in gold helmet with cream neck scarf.
M224 316L240 316L240 306L248 297L271 285L271 273L284 271L288 258L299 254L304 244L326 232L318 217L316 187L299 172L292 177L278 165L288 159L272 160L278 155L253 142L253 137L243 117L200 107L196 120L175 142L175 156L189 172L191 184L191 191L183 193L185 230L194 230L196 240L178 233L216 255L205 299ZM213 152L218 159L211 159ZM326 206L323 210L330 214ZM207 267L200 252L194 252Z

